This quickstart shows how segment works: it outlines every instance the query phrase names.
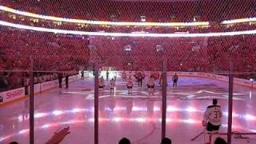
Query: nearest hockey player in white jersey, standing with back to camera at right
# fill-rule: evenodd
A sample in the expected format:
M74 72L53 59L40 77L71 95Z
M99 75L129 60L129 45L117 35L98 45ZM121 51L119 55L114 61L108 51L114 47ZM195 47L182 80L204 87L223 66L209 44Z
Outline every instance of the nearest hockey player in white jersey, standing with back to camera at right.
M213 105L207 106L203 115L202 126L206 126L208 132L218 131L222 124L222 108L218 106L218 100L213 99Z

